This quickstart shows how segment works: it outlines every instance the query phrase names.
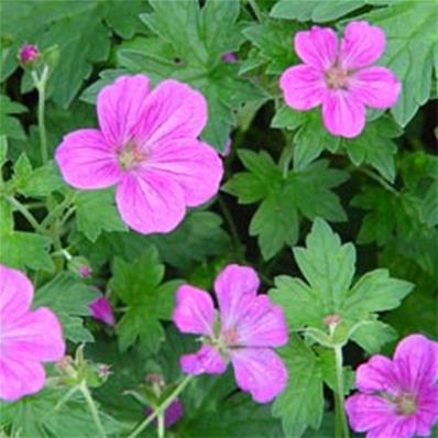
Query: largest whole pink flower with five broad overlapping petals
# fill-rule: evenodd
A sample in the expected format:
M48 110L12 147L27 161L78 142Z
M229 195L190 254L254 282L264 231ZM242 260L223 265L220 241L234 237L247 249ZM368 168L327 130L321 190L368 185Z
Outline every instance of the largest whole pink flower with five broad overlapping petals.
M186 207L217 194L222 162L197 139L207 123L200 92L173 79L151 91L146 76L121 76L99 92L97 113L100 130L66 135L56 161L76 188L117 185L116 202L131 228L172 231Z

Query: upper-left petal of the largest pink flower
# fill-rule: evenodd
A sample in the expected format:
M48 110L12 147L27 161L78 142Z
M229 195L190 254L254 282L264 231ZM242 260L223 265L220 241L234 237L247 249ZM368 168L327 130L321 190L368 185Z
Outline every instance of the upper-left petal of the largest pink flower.
M121 147L132 140L150 94L144 75L120 76L97 98L100 129L107 142Z

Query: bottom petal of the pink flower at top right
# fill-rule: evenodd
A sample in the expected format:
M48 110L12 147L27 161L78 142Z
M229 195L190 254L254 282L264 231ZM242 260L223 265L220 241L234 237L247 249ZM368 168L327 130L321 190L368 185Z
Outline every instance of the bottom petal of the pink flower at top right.
M351 139L365 127L365 107L351 92L330 91L322 102L322 121L331 134Z

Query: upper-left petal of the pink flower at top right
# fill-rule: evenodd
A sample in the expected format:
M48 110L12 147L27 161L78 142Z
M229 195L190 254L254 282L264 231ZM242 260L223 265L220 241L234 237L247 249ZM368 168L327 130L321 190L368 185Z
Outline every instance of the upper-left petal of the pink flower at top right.
M327 70L336 62L338 37L330 28L313 26L295 34L295 52L304 63Z

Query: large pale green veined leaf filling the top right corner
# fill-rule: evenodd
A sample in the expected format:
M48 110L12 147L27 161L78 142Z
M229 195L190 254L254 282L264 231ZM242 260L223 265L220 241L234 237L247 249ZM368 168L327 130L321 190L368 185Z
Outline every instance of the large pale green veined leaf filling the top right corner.
M361 20L381 26L386 34L386 50L379 63L403 83L402 95L391 112L405 127L430 97L434 50L438 44L436 3L394 1L387 8L362 15Z

